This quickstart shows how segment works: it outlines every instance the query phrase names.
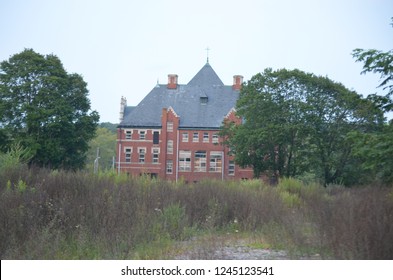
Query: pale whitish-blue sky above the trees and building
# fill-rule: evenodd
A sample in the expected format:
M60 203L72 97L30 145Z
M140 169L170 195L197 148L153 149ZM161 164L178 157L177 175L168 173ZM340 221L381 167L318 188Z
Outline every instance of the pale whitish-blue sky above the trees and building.
M137 105L170 73L186 84L206 63L230 85L298 68L367 95L355 48L393 49L392 0L0 0L0 61L32 48L55 54L88 83L101 122L118 122L121 96Z

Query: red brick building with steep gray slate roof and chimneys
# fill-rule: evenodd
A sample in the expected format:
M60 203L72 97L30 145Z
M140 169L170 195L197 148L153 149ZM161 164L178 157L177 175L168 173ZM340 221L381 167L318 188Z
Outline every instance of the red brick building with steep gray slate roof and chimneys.
M168 75L167 84L157 84L135 107L122 97L118 172L187 182L252 178L252 169L235 165L218 134L224 119L240 122L234 107L242 80L234 76L226 86L206 63L186 85Z

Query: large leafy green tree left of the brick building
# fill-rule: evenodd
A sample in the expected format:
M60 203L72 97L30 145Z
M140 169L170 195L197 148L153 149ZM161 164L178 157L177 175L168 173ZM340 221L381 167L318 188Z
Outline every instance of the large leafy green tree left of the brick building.
M0 64L0 141L31 150L31 164L79 169L99 120L87 84L55 55L25 49Z

